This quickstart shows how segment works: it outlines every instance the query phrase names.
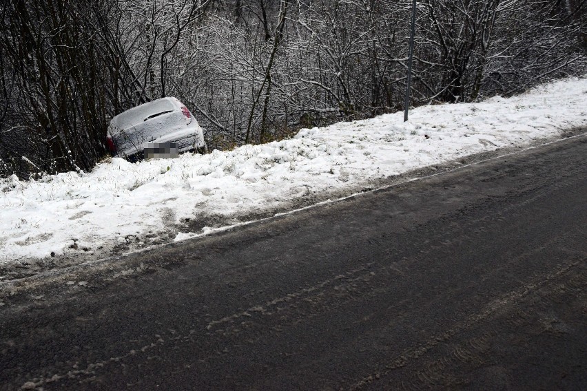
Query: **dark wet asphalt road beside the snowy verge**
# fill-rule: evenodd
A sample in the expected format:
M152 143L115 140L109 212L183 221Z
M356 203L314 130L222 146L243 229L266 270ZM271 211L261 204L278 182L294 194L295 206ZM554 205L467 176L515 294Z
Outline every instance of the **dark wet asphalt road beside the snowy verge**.
M586 201L578 136L4 286L0 389L586 390Z

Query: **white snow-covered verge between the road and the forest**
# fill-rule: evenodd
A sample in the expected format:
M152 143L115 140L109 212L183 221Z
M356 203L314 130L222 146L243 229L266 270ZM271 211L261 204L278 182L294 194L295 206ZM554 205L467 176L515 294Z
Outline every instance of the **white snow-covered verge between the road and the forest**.
M0 180L0 265L140 245L150 235L185 240L201 232L174 227L205 215L276 209L309 194L557 136L587 126L587 79L513 98L419 107L402 121L403 113L387 114L205 156L136 164L114 158L91 173Z

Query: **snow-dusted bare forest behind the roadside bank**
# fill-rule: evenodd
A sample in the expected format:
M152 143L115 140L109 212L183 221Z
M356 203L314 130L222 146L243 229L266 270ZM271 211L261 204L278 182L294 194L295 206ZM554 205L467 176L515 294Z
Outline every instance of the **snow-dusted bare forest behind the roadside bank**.
M91 171L176 96L209 149L404 109L411 0L0 0L0 178ZM411 106L587 72L587 0L418 0Z

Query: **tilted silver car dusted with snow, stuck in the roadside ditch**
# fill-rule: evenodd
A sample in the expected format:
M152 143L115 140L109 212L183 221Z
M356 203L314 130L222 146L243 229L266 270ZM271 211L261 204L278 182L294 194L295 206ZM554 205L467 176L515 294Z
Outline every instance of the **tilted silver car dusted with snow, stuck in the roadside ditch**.
M133 107L110 121L107 145L112 156L131 161L174 158L181 152L207 151L202 128L177 98Z

